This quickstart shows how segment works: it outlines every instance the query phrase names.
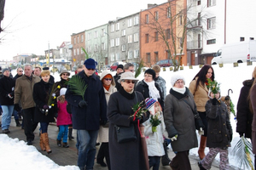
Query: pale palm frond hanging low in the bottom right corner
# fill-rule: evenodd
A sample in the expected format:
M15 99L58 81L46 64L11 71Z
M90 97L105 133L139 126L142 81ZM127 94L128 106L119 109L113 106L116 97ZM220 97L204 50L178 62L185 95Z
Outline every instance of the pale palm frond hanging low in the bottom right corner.
M236 163L240 165L240 168L245 169L245 167L247 167L254 170L253 161L251 159L251 156L253 156L253 146L243 136L236 143L231 151L231 155L235 156Z

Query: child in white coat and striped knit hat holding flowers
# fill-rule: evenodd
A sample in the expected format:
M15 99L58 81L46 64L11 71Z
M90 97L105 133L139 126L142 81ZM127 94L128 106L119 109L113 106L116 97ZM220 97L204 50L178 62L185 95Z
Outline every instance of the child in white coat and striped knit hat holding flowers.
M163 136L168 138L168 134L160 103L152 98L147 98L145 101L146 107L150 112L150 118L143 123L148 149L149 168L153 167L153 170L158 170L160 158L165 155Z

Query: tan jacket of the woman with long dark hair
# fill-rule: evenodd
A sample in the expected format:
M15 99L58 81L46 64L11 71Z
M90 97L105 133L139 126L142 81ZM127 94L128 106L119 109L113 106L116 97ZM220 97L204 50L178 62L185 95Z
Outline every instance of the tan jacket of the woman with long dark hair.
M195 91L197 78L198 77L195 77L195 80L190 82L189 91L191 94L194 95L197 111L205 112L206 111L205 106L209 99L208 97L209 91L208 91L207 85L203 86L201 83L199 84L198 88Z

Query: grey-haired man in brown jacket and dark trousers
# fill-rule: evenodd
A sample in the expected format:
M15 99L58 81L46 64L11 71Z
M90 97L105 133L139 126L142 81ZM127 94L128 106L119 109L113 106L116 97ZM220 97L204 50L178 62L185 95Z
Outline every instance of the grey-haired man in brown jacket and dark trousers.
M19 102L23 109L24 130L26 134L27 145L31 145L35 138L34 130L38 122L33 122L35 111L35 102L33 100L34 84L40 82L40 78L32 74L32 65L24 66L25 74L16 80L15 85L15 110L19 111Z

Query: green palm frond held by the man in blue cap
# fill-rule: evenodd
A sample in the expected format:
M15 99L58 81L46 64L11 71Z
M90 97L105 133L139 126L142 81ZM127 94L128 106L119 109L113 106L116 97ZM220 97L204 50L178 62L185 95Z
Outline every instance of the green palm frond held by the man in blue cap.
M84 93L87 88L87 84L85 84L84 80L78 75L73 76L67 82L68 88L73 92L74 95L82 96L84 99Z

